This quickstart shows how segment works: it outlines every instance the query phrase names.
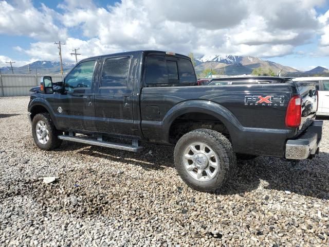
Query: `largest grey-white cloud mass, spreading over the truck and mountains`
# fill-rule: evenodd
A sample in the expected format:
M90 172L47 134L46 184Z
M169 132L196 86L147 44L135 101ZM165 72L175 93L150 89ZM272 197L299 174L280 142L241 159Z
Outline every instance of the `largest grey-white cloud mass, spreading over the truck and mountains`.
M118 51L273 57L291 54L295 46L314 38L319 22L313 7L323 1L231 2L123 0L108 9L93 5L80 6L74 14L67 10L62 20L63 25L82 27L86 37L97 37L101 45L112 44Z

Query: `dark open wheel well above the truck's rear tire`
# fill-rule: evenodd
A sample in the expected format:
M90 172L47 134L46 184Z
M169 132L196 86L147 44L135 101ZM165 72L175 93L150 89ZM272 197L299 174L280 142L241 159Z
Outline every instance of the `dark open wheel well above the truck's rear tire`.
M212 129L230 140L230 134L222 121L205 113L187 113L172 122L169 129L170 143L175 144L181 136L196 129Z

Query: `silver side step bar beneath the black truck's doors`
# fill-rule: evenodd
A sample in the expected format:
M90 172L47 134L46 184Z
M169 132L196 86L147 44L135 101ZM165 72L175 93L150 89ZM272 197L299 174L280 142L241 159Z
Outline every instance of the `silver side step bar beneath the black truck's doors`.
M90 145L101 146L106 148L115 148L115 149L132 151L132 152L139 152L143 150L143 147L138 146L138 142L136 142L136 140L133 140L133 145L127 145L121 143L105 142L104 140L95 140L95 139L89 139L89 138L77 137L77 136L68 136L68 135L59 135L58 138L62 140L70 140L71 142L76 142L76 143L84 143L84 144L90 144Z

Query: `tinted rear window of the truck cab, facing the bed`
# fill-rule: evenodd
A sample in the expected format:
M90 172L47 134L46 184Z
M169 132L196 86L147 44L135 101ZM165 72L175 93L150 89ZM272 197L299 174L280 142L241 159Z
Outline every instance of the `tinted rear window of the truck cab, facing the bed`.
M149 55L145 67L147 86L196 85L194 68L189 59Z

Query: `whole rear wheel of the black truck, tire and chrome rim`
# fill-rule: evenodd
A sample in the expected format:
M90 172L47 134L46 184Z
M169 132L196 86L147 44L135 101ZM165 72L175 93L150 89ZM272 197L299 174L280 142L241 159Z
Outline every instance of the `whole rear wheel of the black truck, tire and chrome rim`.
M210 129L197 129L183 135L176 144L174 160L181 179L199 191L221 188L236 168L231 143Z

